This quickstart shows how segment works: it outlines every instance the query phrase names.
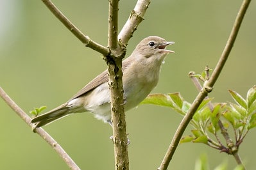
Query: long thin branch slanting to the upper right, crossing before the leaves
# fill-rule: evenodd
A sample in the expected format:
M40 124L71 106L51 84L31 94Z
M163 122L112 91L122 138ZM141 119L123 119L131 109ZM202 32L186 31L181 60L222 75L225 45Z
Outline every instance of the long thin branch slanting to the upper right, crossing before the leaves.
M237 14L236 19L235 19L234 26L232 27L232 31L230 33L228 41L226 42L225 49L223 50L223 53L221 54L221 57L219 58L216 68L212 72L212 76L210 77L209 81L206 81L203 84L203 88L201 89L200 93L198 94L198 96L196 97L194 102L192 103L191 108L189 109L187 114L184 116L179 127L177 128L175 135L173 136L173 140L171 141L171 144L166 152L166 155L164 156L164 159L162 160L160 167L158 167L159 170L167 169L167 167L169 166L169 162L171 161L171 158L173 157L175 150L178 146L178 143L180 143L180 139L182 137L183 132L185 131L185 128L189 124L189 121L192 119L192 116L194 116L194 112L196 112L197 108L199 107L199 105L201 104L203 99L205 97L207 97L208 93L210 93L210 91L212 91L212 87L214 86L215 82L217 81L219 74L221 73L221 70L225 65L226 59L228 59L230 51L234 45L235 38L238 34L239 28L243 21L243 17L246 13L246 10L247 10L249 4L250 4L250 0L243 1L241 8Z

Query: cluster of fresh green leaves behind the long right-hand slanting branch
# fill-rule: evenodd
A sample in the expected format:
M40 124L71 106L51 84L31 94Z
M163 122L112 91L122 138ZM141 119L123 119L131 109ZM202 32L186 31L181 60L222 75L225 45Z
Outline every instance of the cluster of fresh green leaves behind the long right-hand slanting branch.
M212 104L212 98L203 100L190 122L193 127L192 134L183 137L180 143L204 143L212 148L231 153L230 146L224 146L218 136L220 130L227 132L226 129L231 128L235 134L235 146L238 148L248 130L256 127L256 86L248 90L245 99L235 91L229 90L229 93L235 103ZM191 107L180 93L152 94L142 104L170 107L182 116Z

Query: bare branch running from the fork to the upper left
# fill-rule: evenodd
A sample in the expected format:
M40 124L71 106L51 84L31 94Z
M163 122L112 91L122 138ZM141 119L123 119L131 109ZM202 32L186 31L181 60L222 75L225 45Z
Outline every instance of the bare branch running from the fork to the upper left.
M58 8L53 4L50 0L42 0L44 4L46 4L47 8L55 15L55 17L64 24L71 33L73 33L76 38L78 38L86 47L90 47L93 50L96 50L103 54L103 56L108 55L108 48L100 45L99 43L94 42L89 38L89 36L84 35L74 24L65 17L65 15L58 10Z

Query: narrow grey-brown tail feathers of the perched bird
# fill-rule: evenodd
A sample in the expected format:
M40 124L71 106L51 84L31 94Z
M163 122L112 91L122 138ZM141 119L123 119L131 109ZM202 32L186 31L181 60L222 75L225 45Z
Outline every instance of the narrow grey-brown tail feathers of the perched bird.
M40 116L33 118L31 120L31 123L35 123L34 128L42 127L42 126L47 125L55 120L63 118L64 116L67 116L70 113L71 112L69 110L69 107L67 107L67 104L63 104L49 112L46 112Z

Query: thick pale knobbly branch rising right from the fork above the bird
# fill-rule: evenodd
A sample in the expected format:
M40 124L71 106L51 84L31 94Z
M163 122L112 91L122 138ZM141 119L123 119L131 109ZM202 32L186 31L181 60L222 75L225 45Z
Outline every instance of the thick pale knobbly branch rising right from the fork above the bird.
M139 24L142 22L142 20L144 20L144 14L148 9L149 4L149 0L137 1L137 4L135 5L135 8L132 10L129 19L126 21L126 23L123 26L123 29L121 29L118 35L118 40L123 45L126 45L128 43L128 40L130 40L134 31L136 31Z

